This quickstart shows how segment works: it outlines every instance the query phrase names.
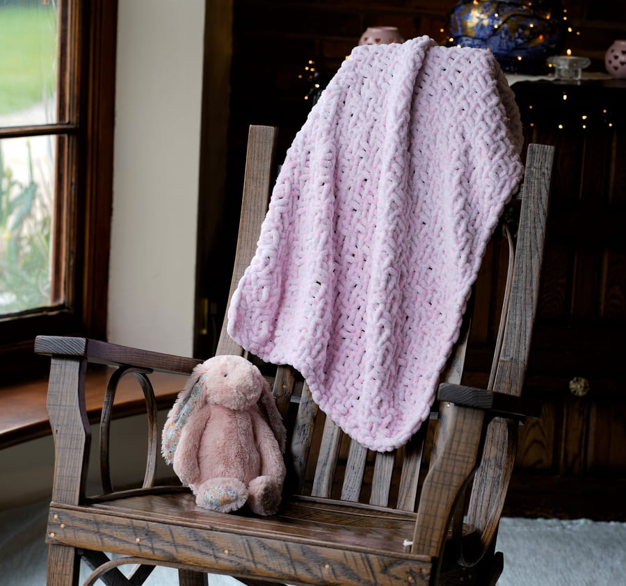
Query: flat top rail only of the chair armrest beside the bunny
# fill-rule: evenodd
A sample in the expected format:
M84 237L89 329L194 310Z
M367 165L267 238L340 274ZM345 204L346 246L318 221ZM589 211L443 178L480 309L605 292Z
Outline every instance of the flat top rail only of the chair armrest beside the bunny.
M111 366L136 366L163 373L191 373L202 362L198 358L186 358L129 348L88 338L67 336L37 336L35 352L49 356L84 357L89 362Z

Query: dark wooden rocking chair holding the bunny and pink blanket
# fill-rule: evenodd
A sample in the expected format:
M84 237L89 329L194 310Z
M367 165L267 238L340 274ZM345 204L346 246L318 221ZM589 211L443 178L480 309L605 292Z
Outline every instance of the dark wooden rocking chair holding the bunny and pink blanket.
M232 288L255 250L274 145L275 129L250 129ZM537 413L520 392L538 299L552 158L552 147L531 145L521 205L517 200L516 245L511 231L501 231L515 256L488 389L460 386L465 332L442 376L430 425L397 453L371 453L326 420L298 373L279 367L272 384L288 428L288 478L275 516L209 512L196 507L183 487L154 486L160 430L150 373L188 375L200 360L40 336L36 351L51 356L48 409L56 449L48 586L76 584L81 557L94 569L86 584L99 578L108 585L139 585L156 565L179 569L184 585L207 584L207 573L248 585L495 584L503 567L495 537L517 426ZM218 354L241 353L223 327ZM123 374L133 373L145 392L150 453L140 489L113 491L105 432L104 494L85 494L90 361L117 368L102 429L109 429L111 393ZM123 557L109 560L103 552ZM136 564L129 578L118 569L122 564Z

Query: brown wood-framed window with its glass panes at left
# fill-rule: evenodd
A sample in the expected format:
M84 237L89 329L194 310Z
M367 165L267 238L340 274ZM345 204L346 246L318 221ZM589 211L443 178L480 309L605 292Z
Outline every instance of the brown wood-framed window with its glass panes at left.
M38 334L106 334L116 26L115 0L0 0L4 380Z

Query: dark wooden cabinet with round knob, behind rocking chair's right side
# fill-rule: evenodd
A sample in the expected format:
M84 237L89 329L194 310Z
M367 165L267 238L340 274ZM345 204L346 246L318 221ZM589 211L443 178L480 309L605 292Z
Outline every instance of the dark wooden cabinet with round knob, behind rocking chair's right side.
M509 514L626 519L626 81L513 85L556 146L545 266Z

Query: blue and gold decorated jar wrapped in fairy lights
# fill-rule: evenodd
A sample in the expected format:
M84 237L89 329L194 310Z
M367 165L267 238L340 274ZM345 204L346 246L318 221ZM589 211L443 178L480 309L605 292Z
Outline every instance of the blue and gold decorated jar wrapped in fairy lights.
M489 49L503 70L540 74L563 51L561 0L460 0L449 18L449 44Z

